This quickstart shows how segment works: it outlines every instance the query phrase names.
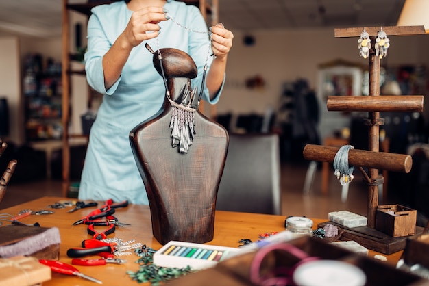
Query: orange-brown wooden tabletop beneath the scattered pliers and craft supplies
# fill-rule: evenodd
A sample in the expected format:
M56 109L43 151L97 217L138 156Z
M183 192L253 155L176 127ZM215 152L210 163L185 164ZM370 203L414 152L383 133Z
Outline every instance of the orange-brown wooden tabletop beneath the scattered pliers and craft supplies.
M16 216L22 209L32 209L33 211L47 209L48 205L56 203L59 200L71 199L43 197L8 209L3 209L1 213L10 213ZM103 202L99 203L103 205ZM54 210L55 213L51 215L28 216L20 220L25 224L39 222L42 227L58 227L61 236L60 261L64 263L71 263L71 258L66 255L66 251L69 248L80 247L84 239L92 238L87 233L86 225L79 224L73 226L72 224L94 209L80 209L73 213L67 213L66 211L69 209L70 208L56 209ZM129 205L128 207L117 209L115 216L117 216L120 222L131 224L131 226L117 227L117 230L108 237L117 237L123 239L124 242L135 239L136 242L146 244L155 250L161 247L159 242L152 236L149 206ZM239 245L238 241L244 238L251 239L255 242L258 240L258 234L260 233L284 231L284 220L285 216L217 211L215 217L215 237L211 242L208 242L208 244L237 247ZM323 219L312 220L314 222L313 228L317 227L317 224L326 221ZM400 259L401 253L402 252L396 252L393 255L388 255L387 263L395 265ZM373 257L375 254L377 253L369 250L369 257ZM103 281L103 285L138 285L136 281L132 281L126 274L127 270L134 272L138 270L139 266L135 263L138 257L133 254L121 258L127 259L127 263L122 265L77 266L77 268L82 273ZM67 276L53 272L51 281L43 283L43 286L50 285L97 284L77 276Z

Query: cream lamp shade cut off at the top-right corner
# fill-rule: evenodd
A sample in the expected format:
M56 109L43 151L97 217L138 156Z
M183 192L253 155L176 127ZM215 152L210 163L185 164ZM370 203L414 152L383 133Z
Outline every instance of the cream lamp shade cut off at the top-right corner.
M397 26L424 25L426 34L429 33L429 1L406 0Z

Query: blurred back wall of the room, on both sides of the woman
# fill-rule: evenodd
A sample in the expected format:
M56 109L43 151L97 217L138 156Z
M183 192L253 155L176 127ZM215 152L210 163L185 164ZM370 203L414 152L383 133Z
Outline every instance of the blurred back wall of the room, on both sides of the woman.
M225 23L228 27L228 23ZM85 28L84 28L85 29ZM358 56L357 38L334 38L333 29L252 31L255 43L243 43L244 31L234 32L234 46L228 57L227 79L221 100L215 107L217 114L264 114L267 108L277 109L286 81L306 79L317 90L319 64L341 59L367 66ZM390 37L391 47L382 64L426 64L429 66L429 36ZM3 36L0 38L0 94L7 94L11 110L11 135L22 141L21 74L22 59L27 53L41 53L44 57L61 60L61 38L37 39ZM3 44L8 43L8 44ZM10 44L15 47L6 49ZM73 46L73 40L71 46ZM19 57L17 57L19 49ZM245 81L260 75L263 88L249 89ZM80 131L80 114L86 111L86 83L84 77L72 79L73 120L71 132ZM326 103L321 103L326 108ZM427 116L429 104L425 107ZM19 123L21 122L21 123Z

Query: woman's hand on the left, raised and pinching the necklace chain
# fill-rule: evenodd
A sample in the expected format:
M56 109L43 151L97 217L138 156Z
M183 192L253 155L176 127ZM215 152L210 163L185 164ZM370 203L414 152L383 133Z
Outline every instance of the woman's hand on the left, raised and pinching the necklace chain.
M144 40L156 38L160 33L160 21L167 20L161 7L147 7L132 13L123 36L131 47L136 47Z

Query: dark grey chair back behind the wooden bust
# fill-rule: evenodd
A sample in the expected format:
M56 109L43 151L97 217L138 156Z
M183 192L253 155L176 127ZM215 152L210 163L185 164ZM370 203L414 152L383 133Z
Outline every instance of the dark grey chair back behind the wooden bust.
M280 197L278 135L230 134L216 209L280 215Z

